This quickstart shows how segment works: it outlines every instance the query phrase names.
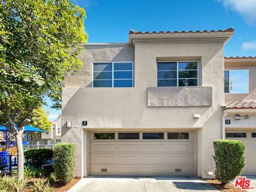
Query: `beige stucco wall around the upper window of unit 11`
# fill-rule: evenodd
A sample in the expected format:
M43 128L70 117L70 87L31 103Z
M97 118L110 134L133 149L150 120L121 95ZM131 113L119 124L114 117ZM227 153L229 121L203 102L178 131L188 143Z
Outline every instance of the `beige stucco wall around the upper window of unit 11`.
M225 70L249 69L249 94L225 94L225 101L255 101L256 98L256 62L252 65L245 63L225 63Z

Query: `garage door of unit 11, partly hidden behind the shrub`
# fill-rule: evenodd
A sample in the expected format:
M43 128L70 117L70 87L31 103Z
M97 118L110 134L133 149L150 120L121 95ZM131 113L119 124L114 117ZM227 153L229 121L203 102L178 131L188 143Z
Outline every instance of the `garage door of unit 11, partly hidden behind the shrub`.
M226 139L241 140L245 145L246 165L243 175L256 175L256 131L226 132Z

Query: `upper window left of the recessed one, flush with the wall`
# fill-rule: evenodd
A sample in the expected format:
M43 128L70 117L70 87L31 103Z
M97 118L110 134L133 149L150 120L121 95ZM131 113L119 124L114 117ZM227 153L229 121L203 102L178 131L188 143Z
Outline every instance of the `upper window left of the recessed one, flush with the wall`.
M133 87L133 62L94 62L93 87Z

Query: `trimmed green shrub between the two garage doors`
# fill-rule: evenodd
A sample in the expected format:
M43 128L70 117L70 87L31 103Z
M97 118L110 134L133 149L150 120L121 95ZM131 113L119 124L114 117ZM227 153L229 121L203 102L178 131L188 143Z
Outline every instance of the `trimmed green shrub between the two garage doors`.
M213 141L213 156L216 169L215 178L227 184L241 175L245 165L245 146L242 141L217 140Z

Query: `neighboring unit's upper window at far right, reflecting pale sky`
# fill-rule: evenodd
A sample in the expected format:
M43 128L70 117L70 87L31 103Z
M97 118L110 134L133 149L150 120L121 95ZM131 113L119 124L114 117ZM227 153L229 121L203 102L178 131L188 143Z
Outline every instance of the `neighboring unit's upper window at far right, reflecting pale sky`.
M225 93L249 93L249 70L225 70Z

